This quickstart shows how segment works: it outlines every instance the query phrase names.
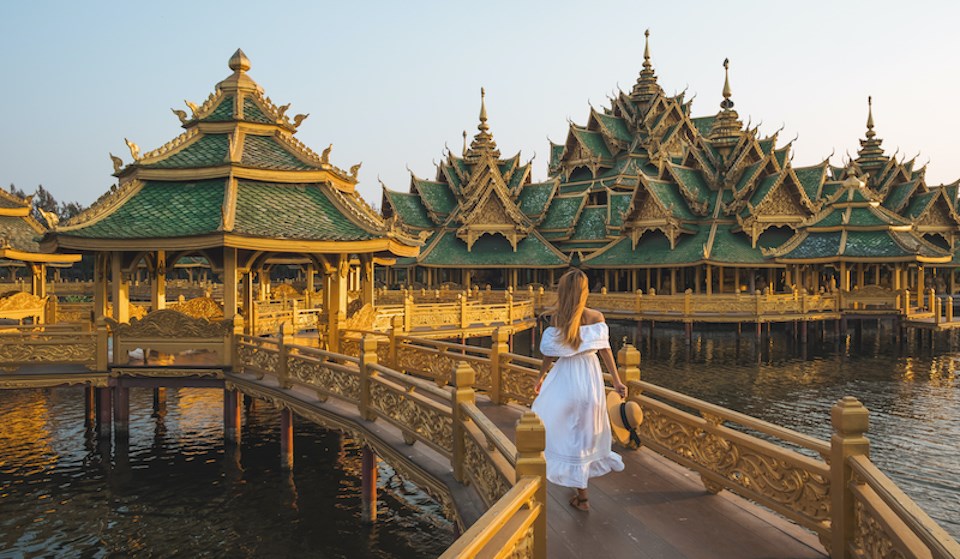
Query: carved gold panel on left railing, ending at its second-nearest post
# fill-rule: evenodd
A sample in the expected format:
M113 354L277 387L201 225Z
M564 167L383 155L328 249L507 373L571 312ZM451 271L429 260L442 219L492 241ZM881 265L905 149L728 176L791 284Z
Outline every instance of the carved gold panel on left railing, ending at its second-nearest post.
M417 402L410 393L370 385L370 404L380 414L404 425L436 446L453 452L453 417Z

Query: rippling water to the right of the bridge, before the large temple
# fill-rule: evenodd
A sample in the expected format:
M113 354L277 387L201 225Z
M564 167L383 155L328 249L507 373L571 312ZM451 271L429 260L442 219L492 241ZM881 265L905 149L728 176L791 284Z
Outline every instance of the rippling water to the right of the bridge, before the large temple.
M612 324L615 347L639 342L643 380L829 440L830 408L854 396L870 410L870 456L934 520L960 540L960 343L915 340L898 348L889 327L872 323L842 343L828 329L806 349L789 328L759 344L751 329L737 341L727 328Z

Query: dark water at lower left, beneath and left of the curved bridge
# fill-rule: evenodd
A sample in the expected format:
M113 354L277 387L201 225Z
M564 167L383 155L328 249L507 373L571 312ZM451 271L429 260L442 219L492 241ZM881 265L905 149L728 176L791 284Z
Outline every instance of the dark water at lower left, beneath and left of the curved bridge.
M223 444L222 391L131 389L127 448L84 428L80 388L0 391L0 557L435 557L454 540L437 503L379 466L379 518L360 524L360 448L279 414L245 414Z

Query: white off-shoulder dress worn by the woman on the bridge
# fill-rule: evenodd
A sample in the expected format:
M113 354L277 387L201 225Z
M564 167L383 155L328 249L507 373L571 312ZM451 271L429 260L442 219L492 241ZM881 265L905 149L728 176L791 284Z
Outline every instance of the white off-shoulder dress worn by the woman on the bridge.
M611 450L606 392L597 350L610 347L604 322L580 327L582 342L563 343L553 326L543 332L540 352L557 357L531 408L546 430L547 479L586 489L587 480L622 471L623 460Z

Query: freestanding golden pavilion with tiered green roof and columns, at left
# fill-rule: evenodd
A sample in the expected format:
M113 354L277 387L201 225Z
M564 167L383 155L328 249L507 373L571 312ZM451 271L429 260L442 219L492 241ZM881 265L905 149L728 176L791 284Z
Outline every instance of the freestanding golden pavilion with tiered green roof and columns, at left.
M190 116L174 111L184 133L143 154L128 142L133 163L114 158L119 185L47 234L43 247L94 253L94 316L104 316L110 299L120 322L129 318L130 281L141 263L157 311L166 306L167 270L203 257L223 283L226 319L242 298L248 333L256 331L254 277L277 262L301 263L308 291L315 291L314 273L323 275L335 348L351 257L361 264L361 297L372 303L374 258L414 256L420 242L359 196L359 164L344 171L330 164L330 148L318 155L294 137L306 115L291 121L287 105L265 97L242 51L229 66L233 73L201 106L190 104Z

